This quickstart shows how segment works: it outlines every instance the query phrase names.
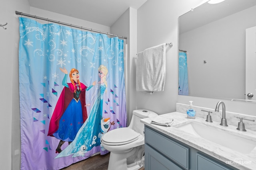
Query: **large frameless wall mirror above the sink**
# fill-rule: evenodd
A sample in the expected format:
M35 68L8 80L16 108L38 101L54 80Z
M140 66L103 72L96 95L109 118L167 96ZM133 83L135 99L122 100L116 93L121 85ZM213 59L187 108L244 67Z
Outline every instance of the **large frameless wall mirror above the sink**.
M246 90L248 84L256 89L256 62L246 67L246 30L252 27L256 0L205 2L180 16L179 95L256 103L256 92ZM255 45L251 54L256 56ZM254 75L250 82L248 73Z

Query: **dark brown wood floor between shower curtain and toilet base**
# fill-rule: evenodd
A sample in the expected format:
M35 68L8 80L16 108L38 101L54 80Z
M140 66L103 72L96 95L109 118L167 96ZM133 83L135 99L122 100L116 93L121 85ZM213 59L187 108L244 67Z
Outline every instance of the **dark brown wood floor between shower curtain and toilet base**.
M109 156L110 153L105 155L97 154L61 170L107 170ZM140 168L140 170L144 170L144 167Z

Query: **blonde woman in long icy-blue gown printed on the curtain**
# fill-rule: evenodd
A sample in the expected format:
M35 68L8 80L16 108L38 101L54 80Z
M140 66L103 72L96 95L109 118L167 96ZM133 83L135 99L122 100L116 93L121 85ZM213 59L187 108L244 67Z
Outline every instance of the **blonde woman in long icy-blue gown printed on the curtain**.
M96 89L91 98L91 103L85 105L85 107L92 106L90 115L79 129L74 141L55 158L69 156L71 154L73 154L72 157L84 156L84 154L93 147L100 146L100 134L102 134L100 121L102 119L103 111L103 95L104 92L107 92L106 88L108 86L106 81L107 74L108 69L106 66L100 65L98 68L98 76L100 77L100 81L96 85ZM99 152L100 147L97 147L96 151Z

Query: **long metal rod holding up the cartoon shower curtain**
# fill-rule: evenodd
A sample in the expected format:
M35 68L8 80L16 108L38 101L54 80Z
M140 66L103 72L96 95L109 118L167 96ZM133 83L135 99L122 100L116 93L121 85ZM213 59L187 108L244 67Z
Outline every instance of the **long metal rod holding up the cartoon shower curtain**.
M85 27L82 27L82 26L80 27L80 26L77 26L77 25L72 25L72 24L69 24L69 23L64 23L64 22L60 22L60 21L56 21L56 20L50 20L48 18L42 18L42 17L38 17L38 16L33 16L33 15L30 15L30 14L25 14L23 12L15 11L15 13L16 13L16 15L28 16L28 17L39 19L39 20L50 21L50 22L54 22L54 23L58 23L58 24L62 24L62 25L68 25L70 27L76 27L76 28L85 29L85 30L88 30L88 31L93 31L93 32L96 32L96 33L103 33L103 34L106 34L106 35L113 35L114 37L120 37L120 38L127 39L127 37L123 37L123 36L119 36L119 35L114 35L114 34L102 32L102 31L98 31L98 30L95 30L95 29L89 29L89 28L85 28Z

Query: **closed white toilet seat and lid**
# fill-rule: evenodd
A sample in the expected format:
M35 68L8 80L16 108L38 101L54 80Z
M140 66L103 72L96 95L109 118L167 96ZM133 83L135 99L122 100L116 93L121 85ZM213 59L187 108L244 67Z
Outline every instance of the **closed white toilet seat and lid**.
M139 133L128 127L114 129L102 136L102 142L106 145L125 145L138 139Z

